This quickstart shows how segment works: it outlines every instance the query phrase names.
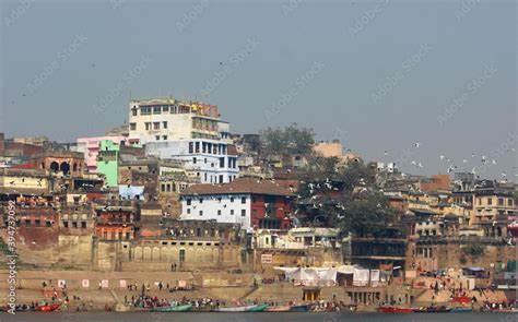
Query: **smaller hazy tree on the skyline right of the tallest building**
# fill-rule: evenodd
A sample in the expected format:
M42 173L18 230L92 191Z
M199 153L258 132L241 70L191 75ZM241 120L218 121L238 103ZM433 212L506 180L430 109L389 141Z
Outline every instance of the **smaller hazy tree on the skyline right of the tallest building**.
M264 151L271 155L305 154L313 152L315 132L309 128L298 128L293 123L284 129L268 128L260 132Z

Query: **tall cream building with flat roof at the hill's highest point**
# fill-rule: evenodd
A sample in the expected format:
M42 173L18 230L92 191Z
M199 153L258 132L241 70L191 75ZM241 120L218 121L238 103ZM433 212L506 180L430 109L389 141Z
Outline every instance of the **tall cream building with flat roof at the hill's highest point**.
M229 139L229 126L217 106L170 98L133 99L129 104L129 138L143 143L186 139Z

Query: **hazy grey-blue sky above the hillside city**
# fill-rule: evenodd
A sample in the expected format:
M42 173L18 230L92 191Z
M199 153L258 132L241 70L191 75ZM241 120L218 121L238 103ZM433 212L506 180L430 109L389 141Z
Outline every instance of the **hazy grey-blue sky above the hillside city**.
M0 2L8 138L102 135L173 95L233 133L296 122L408 172L517 181L517 1Z

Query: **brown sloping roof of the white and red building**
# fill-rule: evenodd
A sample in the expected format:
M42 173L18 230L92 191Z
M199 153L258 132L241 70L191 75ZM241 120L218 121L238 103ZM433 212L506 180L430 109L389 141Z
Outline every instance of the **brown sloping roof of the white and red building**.
M237 178L231 183L223 184L193 184L188 187L183 195L208 195L208 194L232 194L252 193L269 195L292 195L292 193L279 183L270 180L258 180L255 178Z

